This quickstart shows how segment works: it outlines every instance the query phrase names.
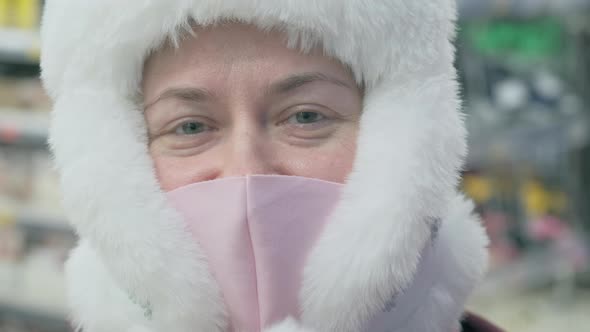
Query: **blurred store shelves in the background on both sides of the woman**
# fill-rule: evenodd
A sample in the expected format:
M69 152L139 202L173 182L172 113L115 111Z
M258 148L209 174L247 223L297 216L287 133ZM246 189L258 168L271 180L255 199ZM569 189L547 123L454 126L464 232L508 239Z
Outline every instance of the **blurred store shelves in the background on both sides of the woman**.
M46 146L39 0L0 0L0 332L70 331L76 242ZM463 189L491 238L469 309L507 331L590 331L590 0L459 1Z

